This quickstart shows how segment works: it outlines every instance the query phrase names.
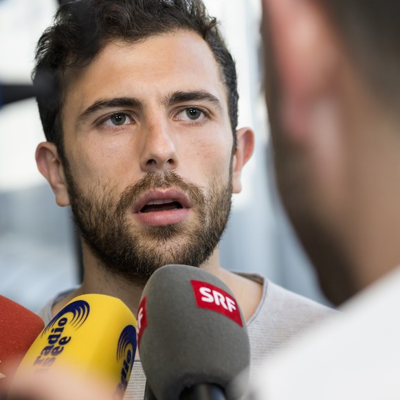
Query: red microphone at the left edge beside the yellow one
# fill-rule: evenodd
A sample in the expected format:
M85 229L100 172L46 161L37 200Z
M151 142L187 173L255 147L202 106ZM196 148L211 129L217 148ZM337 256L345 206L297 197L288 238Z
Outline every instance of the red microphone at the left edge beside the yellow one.
M43 320L4 296L0 296L0 398L25 353L41 333Z

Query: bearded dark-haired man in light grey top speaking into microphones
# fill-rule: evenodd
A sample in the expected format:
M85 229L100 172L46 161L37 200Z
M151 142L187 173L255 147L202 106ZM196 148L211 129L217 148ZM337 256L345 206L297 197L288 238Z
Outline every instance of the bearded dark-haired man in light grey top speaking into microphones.
M85 0L63 5L38 43L34 81L47 142L39 170L71 205L85 277L42 312L49 320L83 293L121 298L136 314L146 280L168 263L221 278L249 324L256 365L329 309L263 278L219 265L232 192L252 155L236 130L236 71L199 0ZM233 133L233 134L232 134ZM140 360L127 397L144 391Z

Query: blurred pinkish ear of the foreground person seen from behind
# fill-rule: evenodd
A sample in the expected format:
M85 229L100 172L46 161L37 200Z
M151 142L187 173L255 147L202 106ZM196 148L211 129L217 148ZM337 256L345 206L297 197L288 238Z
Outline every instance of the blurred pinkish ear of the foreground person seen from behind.
M266 23L267 21L267 23ZM340 47L326 13L311 0L263 0L280 88L280 121L291 140L307 140L320 122L320 102L335 107Z

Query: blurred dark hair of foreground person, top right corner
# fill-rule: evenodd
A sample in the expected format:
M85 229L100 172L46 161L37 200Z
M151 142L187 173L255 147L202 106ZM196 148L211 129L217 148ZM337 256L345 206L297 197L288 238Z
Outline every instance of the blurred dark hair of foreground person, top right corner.
M400 2L315 0L333 21L348 56L379 100L400 102Z

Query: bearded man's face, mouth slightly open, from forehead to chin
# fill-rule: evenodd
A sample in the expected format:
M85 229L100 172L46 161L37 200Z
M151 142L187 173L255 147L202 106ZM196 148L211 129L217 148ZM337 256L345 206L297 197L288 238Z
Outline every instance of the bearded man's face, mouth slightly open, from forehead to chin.
M199 35L109 43L67 76L63 133L69 203L104 267L138 281L210 257L230 212L233 137Z

